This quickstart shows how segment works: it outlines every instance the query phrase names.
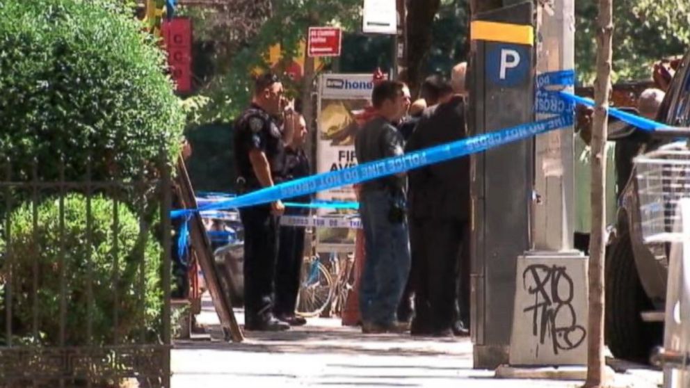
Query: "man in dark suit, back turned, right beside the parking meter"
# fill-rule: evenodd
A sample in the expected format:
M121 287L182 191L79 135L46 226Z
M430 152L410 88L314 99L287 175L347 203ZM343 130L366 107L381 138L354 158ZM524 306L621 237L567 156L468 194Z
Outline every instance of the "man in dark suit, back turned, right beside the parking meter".
M440 104L427 108L410 136L406 152L460 140L467 136L465 98L461 88L443 95ZM470 218L470 160L451 159L408 172L410 245L415 268L413 335L467 334L454 330L458 319L458 280L467 278L469 262L461 250L467 243ZM459 258L459 259L458 259ZM466 267L466 268L463 268ZM458 276L459 269L463 273ZM463 287L464 288L464 287ZM460 318L469 312L469 298L460 298ZM469 314L467 314L469 315ZM466 319L466 318L465 318ZM462 321L462 319L460 319ZM463 322L467 327L467 322Z

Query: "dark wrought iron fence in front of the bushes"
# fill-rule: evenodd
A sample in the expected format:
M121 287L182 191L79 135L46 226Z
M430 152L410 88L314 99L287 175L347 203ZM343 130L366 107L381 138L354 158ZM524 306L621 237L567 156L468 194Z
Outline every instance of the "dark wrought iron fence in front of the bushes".
M4 164L0 387L169 387L166 163L98 181Z

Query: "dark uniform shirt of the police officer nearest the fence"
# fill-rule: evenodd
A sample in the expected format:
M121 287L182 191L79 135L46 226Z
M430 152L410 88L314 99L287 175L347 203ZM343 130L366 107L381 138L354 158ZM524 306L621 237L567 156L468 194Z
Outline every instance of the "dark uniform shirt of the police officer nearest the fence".
M271 167L271 177L275 184L284 180L285 148L282 134L266 111L256 104L252 104L235 124L234 154L235 165L239 177L246 180L246 188L255 190L261 188L249 152L257 149L264 152Z

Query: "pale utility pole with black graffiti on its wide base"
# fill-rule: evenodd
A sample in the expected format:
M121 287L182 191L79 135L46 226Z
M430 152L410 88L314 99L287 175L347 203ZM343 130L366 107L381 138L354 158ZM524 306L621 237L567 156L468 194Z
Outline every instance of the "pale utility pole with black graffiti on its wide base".
M537 77L572 71L575 66L575 0L539 1L536 17ZM539 90L539 87L540 85L535 86L538 108L536 120L554 115L571 115L572 118L572 106L550 104L552 97ZM567 86L565 91L572 92L573 88L572 85ZM536 137L531 246L518 257L515 274L510 351L512 366L586 364L587 258L573 249L574 171L572 124ZM559 273L570 280L568 286L559 279L561 275L547 275L548 271L540 272L535 268L559 268ZM542 333L533 329L534 320L545 317L535 315L529 309L535 297L530 292L534 282L543 282L540 284L545 289L558 290L555 293L548 291L545 294L548 298L559 298L561 293L568 292L567 303L572 312L572 325L577 328L574 329L577 330L577 335L569 337L571 346L554 350L555 348L535 345Z

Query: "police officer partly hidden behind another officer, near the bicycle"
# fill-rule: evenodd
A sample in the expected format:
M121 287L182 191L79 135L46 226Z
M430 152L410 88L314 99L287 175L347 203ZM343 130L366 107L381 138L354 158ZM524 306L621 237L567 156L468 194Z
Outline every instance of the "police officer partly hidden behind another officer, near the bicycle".
M310 175L309 159L303 145L307 138L307 123L298 113L287 115L284 126L285 138L285 177L299 179ZM305 202L311 195L289 198L286 202ZM289 216L308 216L309 209L290 207L285 211ZM300 289L300 270L304 260L304 227L281 226L278 265L275 273L275 306L273 314L280 321L291 326L304 325L305 318L295 315L297 293Z

